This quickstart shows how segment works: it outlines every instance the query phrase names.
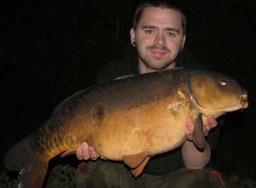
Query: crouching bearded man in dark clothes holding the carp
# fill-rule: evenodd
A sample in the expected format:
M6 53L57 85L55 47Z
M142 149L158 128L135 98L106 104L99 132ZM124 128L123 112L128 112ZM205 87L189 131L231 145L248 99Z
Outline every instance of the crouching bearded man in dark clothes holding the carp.
M97 75L97 82L179 66L202 67L192 61L182 62L178 56L186 40L185 30L186 17L179 8L160 1L141 3L130 31L138 55L132 52L122 61L106 65ZM188 119L185 143L176 150L152 157L138 178L132 177L122 163L97 160L82 167L75 179L77 187L227 187L217 171L205 168L218 139L218 129L209 133L217 121L212 116L207 119L209 124L204 127L207 144L203 151L191 142L194 123ZM87 143L78 147L76 155L78 159L99 157Z

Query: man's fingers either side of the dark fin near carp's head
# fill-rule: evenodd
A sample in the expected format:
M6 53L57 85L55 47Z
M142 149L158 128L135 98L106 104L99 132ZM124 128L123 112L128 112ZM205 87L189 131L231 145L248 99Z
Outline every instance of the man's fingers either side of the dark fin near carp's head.
M207 120L208 120L209 124L203 126L203 131L204 131L205 137L208 135L210 129L216 127L216 125L217 125L217 120L213 116L211 116L211 115L207 116ZM192 140L194 126L195 125L194 125L193 121L190 118L188 118L187 123L186 123L187 130L185 131L185 136L186 136L187 140L190 140L190 141Z

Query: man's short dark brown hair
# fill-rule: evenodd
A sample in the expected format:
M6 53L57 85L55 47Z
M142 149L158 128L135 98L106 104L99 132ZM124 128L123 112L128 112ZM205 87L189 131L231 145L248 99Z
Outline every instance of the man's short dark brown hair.
M178 11L181 14L181 25L182 25L182 29L183 29L183 35L186 34L186 25L187 25L186 15L178 5L170 3L170 1L143 1L142 3L140 3L138 5L138 7L135 11L134 17L133 17L133 29L134 30L137 29L138 22L140 21L143 10L147 7L173 9L173 10Z

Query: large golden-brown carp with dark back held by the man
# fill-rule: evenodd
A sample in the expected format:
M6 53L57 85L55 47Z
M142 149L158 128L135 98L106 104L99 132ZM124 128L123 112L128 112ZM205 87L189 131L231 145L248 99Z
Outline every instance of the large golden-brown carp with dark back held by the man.
M151 156L184 143L188 117L195 123L193 141L203 149L202 115L218 118L247 106L246 90L212 71L184 68L111 80L61 102L37 131L9 149L4 162L19 172L18 187L41 187L49 160L86 141L138 176Z

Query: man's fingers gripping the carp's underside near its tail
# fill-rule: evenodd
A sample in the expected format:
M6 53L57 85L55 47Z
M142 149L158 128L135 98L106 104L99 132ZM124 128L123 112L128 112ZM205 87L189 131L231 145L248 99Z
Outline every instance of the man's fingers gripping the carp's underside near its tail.
M83 142L81 146L77 147L76 150L76 157L79 160L88 160L88 159L92 159L92 160L96 160L99 155L98 153L96 153L96 151L94 150L93 147L88 146L88 144L86 142ZM106 159L105 157L102 157L102 159Z

